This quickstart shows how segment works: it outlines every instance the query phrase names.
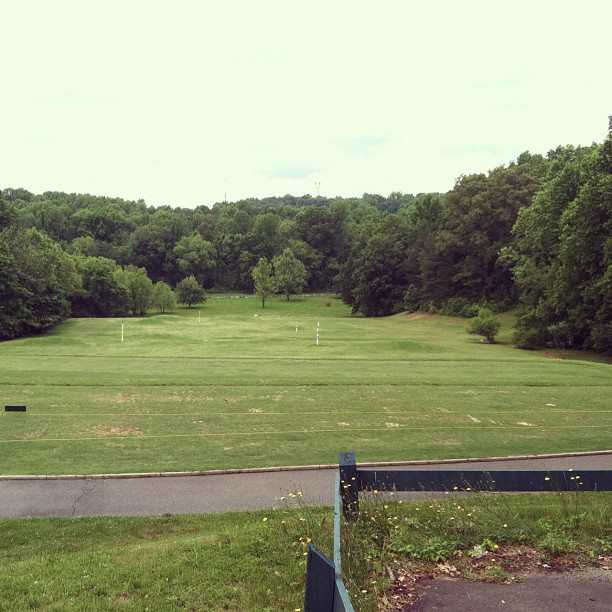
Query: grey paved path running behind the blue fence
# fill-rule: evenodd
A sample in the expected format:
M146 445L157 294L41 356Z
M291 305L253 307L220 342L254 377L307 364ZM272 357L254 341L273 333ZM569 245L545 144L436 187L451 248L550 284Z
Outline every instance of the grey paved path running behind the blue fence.
M405 469L612 469L612 454L405 466ZM395 466L393 469L402 469ZM155 516L257 510L301 490L308 504L332 504L333 469L147 478L0 480L0 517ZM406 493L404 499L431 497Z

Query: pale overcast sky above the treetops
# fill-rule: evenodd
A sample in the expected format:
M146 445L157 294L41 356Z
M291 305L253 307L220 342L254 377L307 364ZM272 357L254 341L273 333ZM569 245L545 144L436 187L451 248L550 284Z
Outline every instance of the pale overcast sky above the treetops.
M601 141L608 0L0 0L0 187L446 191Z

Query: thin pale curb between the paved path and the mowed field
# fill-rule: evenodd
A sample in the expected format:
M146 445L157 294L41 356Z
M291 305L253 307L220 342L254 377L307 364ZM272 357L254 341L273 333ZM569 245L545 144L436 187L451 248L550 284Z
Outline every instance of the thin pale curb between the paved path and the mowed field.
M490 461L520 461L525 459L555 459L563 457L589 457L612 455L611 450L580 451L573 453L547 453L542 455L507 455L504 457L468 457L464 459L413 459L409 461L374 461L358 463L359 467L402 467L410 465L447 465L453 463L485 463ZM189 472L134 472L124 474L0 474L0 481L6 480L105 480L122 478L172 478L177 476L226 476L231 474L261 474L267 472L301 472L307 470L333 470L337 463L320 465L285 465L263 468L235 468L227 470L195 470Z

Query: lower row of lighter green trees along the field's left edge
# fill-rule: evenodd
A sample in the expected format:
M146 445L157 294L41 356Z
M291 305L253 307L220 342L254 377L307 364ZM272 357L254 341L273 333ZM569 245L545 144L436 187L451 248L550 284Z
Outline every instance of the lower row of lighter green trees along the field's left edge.
M124 316L206 299L193 276L173 290L144 268L72 255L35 228L0 231L0 340L47 331L69 316Z

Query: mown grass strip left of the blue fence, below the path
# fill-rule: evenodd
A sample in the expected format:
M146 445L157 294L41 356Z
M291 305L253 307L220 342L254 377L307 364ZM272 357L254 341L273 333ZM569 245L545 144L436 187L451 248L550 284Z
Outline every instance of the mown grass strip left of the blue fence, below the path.
M327 514L0 521L0 610L295 610Z

